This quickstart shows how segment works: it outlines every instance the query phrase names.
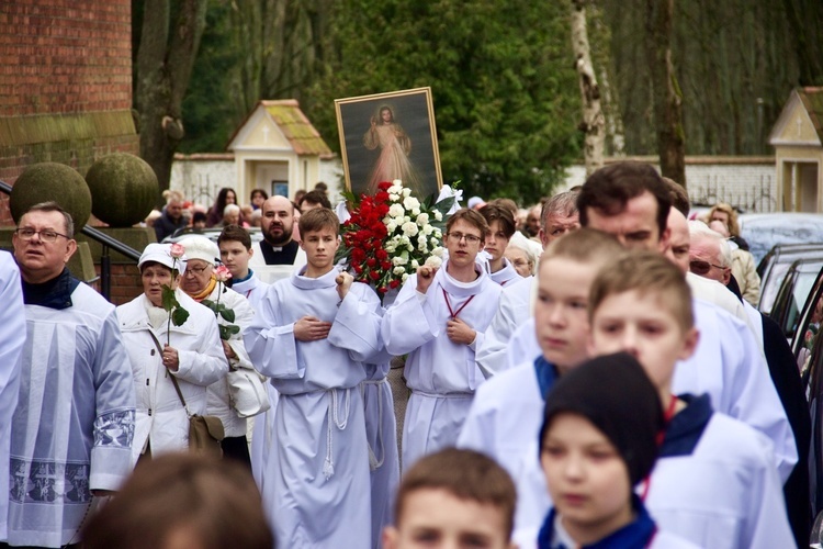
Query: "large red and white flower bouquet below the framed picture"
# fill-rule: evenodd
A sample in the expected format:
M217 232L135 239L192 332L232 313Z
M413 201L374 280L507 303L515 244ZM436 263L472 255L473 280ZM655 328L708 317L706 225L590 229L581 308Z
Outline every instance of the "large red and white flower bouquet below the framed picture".
M348 259L354 280L371 284L382 300L420 266L439 267L446 214L455 199L437 202L432 194L420 202L399 179L377 189L354 201L351 217L340 228L336 259Z

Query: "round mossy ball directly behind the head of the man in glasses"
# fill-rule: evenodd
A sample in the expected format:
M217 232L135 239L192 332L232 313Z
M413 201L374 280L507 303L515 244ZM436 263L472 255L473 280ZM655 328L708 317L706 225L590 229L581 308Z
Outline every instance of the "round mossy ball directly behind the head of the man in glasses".
M76 233L89 221L89 186L77 170L65 164L33 164L23 170L9 195L9 209L14 223L34 204L48 201L57 202L71 214Z

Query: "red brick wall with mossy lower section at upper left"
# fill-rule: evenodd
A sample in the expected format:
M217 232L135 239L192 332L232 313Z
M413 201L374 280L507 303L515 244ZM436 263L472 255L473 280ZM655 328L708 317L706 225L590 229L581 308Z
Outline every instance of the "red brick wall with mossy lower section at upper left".
M86 175L100 156L138 152L131 19L131 0L0 1L0 180L41 161Z

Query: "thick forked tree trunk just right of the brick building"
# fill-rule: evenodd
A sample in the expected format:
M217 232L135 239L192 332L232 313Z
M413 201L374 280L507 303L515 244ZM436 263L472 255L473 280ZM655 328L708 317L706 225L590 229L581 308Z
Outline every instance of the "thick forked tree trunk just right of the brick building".
M183 138L182 102L200 37L205 29L206 0L146 0L137 52L134 102L138 112L140 157L169 188L171 163Z

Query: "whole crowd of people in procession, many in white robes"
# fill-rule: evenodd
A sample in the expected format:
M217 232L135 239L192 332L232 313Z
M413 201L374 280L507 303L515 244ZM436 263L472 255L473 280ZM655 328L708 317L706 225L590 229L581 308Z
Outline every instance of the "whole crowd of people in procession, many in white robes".
M443 262L381 300L336 259L345 205L250 198L260 242L221 192L217 242L158 234L117 307L67 270L59 205L21 217L0 255L9 547L809 541L811 419L733 209L691 219L635 161L535 208L473 197ZM158 231L185 219L168 200ZM192 416L219 418L222 460L187 452Z

